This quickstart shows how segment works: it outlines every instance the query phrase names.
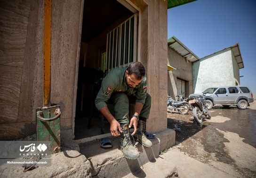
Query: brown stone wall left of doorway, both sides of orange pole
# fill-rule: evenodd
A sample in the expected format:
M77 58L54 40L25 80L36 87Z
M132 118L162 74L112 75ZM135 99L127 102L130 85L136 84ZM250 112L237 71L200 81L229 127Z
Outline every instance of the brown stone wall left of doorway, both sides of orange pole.
M43 107L44 1L1 1L0 138L34 134ZM74 118L83 0L52 1L51 103L60 104L61 129Z

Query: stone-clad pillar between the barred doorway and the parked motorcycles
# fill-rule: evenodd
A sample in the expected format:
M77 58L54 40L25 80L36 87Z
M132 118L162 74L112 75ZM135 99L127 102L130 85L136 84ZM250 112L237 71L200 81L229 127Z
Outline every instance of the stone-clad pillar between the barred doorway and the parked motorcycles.
M167 1L130 0L141 11L140 61L145 64L152 107L147 130L167 128Z

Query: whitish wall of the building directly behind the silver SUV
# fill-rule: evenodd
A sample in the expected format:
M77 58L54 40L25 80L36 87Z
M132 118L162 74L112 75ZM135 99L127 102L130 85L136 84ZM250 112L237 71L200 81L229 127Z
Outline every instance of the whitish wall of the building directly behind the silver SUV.
M209 87L235 85L230 48L211 54L193 62L194 93Z

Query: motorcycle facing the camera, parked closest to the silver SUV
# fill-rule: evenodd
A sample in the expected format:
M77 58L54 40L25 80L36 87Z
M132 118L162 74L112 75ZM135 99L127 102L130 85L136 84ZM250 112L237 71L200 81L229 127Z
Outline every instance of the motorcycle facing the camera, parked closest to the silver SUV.
M211 114L207 109L206 99L203 98L204 93L200 96L190 96L187 98L189 104L193 106L192 114L194 121L197 124L201 124L203 121L202 115L206 117L206 119L211 119Z

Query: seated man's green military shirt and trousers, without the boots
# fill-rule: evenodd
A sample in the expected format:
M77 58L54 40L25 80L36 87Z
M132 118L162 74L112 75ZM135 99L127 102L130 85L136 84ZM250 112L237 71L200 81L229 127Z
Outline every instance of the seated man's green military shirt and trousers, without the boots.
M135 97L135 102L144 104L139 115L140 118L148 119L151 108L151 96L147 93L146 76L135 88L128 88L125 76L126 70L127 67L122 67L110 71L104 78L95 100L98 110L107 104L114 104L114 117L120 124L129 123L128 98Z

